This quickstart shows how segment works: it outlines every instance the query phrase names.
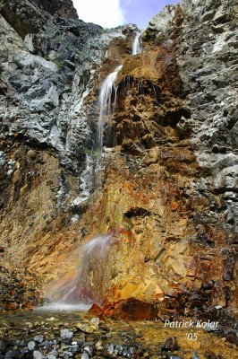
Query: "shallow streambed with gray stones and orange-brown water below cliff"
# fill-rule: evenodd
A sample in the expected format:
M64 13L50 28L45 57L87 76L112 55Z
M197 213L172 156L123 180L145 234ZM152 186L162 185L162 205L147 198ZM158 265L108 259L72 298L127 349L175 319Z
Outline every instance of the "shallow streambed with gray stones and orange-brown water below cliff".
M238 358L235 346L208 328L99 319L85 311L9 312L0 317L0 338L6 359Z

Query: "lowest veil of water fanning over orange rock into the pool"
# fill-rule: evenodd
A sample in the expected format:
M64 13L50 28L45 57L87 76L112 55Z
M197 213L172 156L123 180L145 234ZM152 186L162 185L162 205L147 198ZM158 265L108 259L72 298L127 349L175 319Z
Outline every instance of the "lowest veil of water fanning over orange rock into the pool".
M106 278L106 262L111 247L117 242L110 235L98 236L80 248L80 265L65 283L59 280L51 286L50 303L42 310L86 311L93 303L103 301L102 283ZM97 287L98 285L98 287Z

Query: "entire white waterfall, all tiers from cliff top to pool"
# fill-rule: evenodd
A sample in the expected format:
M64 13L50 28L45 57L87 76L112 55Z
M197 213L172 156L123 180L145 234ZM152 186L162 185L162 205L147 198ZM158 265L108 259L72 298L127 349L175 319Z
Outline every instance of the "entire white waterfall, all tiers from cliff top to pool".
M133 41L132 53L138 54L142 51L140 33L136 35ZM99 93L99 118L98 118L98 134L97 146L100 151L97 167L100 171L100 163L103 153L104 143L104 126L106 119L111 119L116 103L117 86L116 78L118 72L123 66L117 66L115 71L109 74ZM112 102L112 99L114 101ZM87 157L90 160L90 157ZM87 162L85 175L88 174L91 163ZM98 187L98 185L97 185ZM86 183L82 183L81 197L77 197L77 201L81 203L88 197L89 191ZM77 203L78 203L77 202ZM117 242L114 236L104 235L98 236L91 241L83 244L76 253L79 253L80 266L74 270L71 275L65 275L61 280L50 285L50 293L48 297L51 304L45 305L43 309L51 310L73 310L73 309L87 309L92 303L98 303L105 298L104 284L106 284L106 264L109 256L109 251L112 245Z

